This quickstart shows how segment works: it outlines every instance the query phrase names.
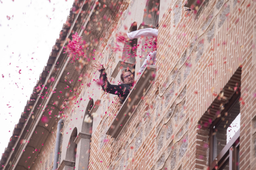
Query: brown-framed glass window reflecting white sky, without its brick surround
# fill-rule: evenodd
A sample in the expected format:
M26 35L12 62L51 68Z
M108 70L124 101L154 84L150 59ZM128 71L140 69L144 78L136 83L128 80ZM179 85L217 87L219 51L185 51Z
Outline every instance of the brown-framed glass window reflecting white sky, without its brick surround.
M220 106L210 126L209 166L211 170L239 169L240 88L228 103Z

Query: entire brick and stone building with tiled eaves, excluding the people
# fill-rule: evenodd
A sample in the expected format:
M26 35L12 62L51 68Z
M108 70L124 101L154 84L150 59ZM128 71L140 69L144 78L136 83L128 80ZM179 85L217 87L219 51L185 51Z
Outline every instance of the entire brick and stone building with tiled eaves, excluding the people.
M1 169L255 169L256 5L188 4L74 1ZM115 34L157 23L156 64L138 76L150 51L142 50L145 38L133 51L141 57L127 57L113 48L129 46ZM87 58L72 63L63 46L75 32ZM99 86L97 61L113 84L136 61L136 84L122 105Z

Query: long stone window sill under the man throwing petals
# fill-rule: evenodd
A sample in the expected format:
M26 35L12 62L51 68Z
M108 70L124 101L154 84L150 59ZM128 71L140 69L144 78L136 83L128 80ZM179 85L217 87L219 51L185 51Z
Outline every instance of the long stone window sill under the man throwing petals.
M153 84L155 72L156 66L147 65L145 67L141 77L138 79L130 94L127 96L127 98L130 98L131 100L124 101L122 107L116 113L115 119L110 124L108 131L106 132L107 135L110 135L113 138L118 138L132 117L133 113L136 111L138 105L143 100L142 98Z

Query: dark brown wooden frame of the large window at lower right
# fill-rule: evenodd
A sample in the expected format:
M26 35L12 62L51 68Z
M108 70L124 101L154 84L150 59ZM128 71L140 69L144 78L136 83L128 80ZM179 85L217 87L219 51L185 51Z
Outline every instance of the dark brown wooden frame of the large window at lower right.
M240 87L238 93L235 93L229 102L225 105L225 109L220 113L220 117L218 117L212 124L210 125L210 135L209 135L209 166L210 170L215 170L217 166L217 170L223 169L229 162L229 169L237 170L239 169L239 146L240 146L240 129L234 134L234 136L230 139L230 141L226 144L226 146L220 151L220 153L213 158L215 147L215 135L213 135L215 131L215 126L221 121L223 117L225 117L225 113L229 112L235 104L239 103L239 98L241 96ZM237 166L238 162L238 166Z

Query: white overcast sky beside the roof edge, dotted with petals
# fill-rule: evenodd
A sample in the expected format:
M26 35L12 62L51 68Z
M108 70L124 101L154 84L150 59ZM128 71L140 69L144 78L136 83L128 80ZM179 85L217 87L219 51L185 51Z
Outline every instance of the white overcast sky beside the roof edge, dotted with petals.
M73 0L0 0L0 153L8 145L72 4Z

